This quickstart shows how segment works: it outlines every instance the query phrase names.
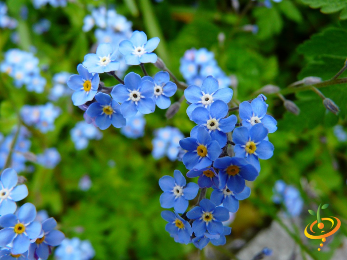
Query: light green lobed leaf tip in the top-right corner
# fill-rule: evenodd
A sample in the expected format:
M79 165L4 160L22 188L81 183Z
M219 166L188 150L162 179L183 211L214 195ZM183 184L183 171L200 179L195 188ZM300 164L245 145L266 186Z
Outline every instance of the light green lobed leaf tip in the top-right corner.
M335 13L342 11L341 19L347 19L347 1L346 0L301 0L312 8L320 8L322 13Z

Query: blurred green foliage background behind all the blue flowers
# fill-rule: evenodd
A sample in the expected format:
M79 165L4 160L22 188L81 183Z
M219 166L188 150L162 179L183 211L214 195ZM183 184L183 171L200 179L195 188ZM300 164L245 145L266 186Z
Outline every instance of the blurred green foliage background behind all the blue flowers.
M18 123L16 112L22 105L47 102L55 73L76 73L77 64L96 42L92 32L81 30L83 18L90 13L88 5L115 7L117 13L133 22L133 30L144 31L149 38L160 37L156 53L180 80L183 78L179 59L186 50L207 48L214 52L219 66L237 78L233 96L236 103L256 97L254 92L264 85L283 89L307 76L326 80L344 66L347 21L341 20L338 12L323 14L307 4L323 6L328 12L339 11L343 5L329 9L330 5L319 5L319 0L283 0L267 8L253 1L239 2L240 11L236 12L230 0L74 0L63 8L47 5L40 9L34 9L29 0L7 0L9 13L19 21L18 48L37 48L35 55L40 64L48 65L42 73L48 84L43 94L29 93L14 88L12 79L1 74L1 132L8 134ZM20 17L19 7L23 5L29 9L27 20ZM346 9L341 14L345 18L343 14L346 16ZM43 35L33 34L32 24L41 18L49 19L52 27ZM244 31L243 26L249 24L257 25L258 33ZM221 33L225 41L218 40ZM312 35L315 36L311 38ZM2 55L16 48L9 38L9 30L0 31ZM151 75L158 71L151 65L147 70ZM130 67L128 71L140 73L139 67ZM102 80L108 86L117 84L112 78L102 76ZM270 137L275 153L271 159L261 161L260 176L249 184L251 196L240 203L228 243L239 238L249 241L278 218L280 207L272 203L272 188L276 180L283 179L298 188L305 201L303 224L298 233L292 233L299 244L303 243L299 236L302 237L304 227L312 222L307 209L315 210L320 203L328 203L330 207L325 213L340 217L343 222L329 251L316 252L315 241L306 241L303 251L325 260L341 247L347 234L347 143L338 141L333 126L347 126L347 86L329 86L322 92L339 105L338 116L327 112L322 100L310 91L286 95L299 106L298 116L287 112L276 95L267 95L268 111L278 120L278 131ZM181 95L182 91L177 91L173 100ZM35 165L33 173L24 173L29 188L26 201L38 209L47 209L67 237L90 240L96 260L204 258L193 245L176 244L165 231L166 222L160 216L159 178L173 175L174 169L182 173L187 170L181 162L155 160L151 155L154 129L171 125L189 135L194 124L186 116L186 104L170 120L166 119L165 110L146 115L143 138L127 139L111 127L103 131L103 139L91 141L82 151L75 150L69 131L83 120L83 112L72 105L69 97L60 99L57 105L63 113L56 120L55 130L46 135L34 131L31 152L38 154L44 148L56 147L61 162L53 170ZM93 183L87 192L78 188L78 181L85 174ZM221 251L221 259L231 259L236 253L223 247L210 250Z

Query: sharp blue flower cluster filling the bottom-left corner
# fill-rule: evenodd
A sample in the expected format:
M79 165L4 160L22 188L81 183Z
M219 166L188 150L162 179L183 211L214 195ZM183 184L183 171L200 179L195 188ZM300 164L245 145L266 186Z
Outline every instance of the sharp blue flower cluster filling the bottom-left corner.
M36 221L36 208L31 203L16 211L16 202L28 196L28 189L18 185L18 175L12 168L3 170L0 185L0 259L48 259L53 247L65 238L55 229L57 221L53 217Z

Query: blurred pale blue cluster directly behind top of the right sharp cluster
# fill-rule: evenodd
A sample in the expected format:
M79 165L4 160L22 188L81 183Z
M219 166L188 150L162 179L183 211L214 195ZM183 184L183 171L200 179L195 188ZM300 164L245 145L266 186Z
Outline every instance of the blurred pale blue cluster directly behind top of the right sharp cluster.
M207 76L213 76L217 79L220 89L230 87L232 83L231 79L218 66L214 53L205 48L187 50L180 59L179 71L189 85L200 87L203 79Z

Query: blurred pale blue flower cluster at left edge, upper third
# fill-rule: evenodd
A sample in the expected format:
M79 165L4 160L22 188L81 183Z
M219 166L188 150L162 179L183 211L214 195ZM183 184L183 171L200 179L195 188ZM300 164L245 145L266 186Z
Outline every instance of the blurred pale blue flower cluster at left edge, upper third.
M26 86L28 91L42 93L46 79L40 75L39 59L31 52L11 49L5 53L5 59L0 65L1 72L14 79L14 86Z

